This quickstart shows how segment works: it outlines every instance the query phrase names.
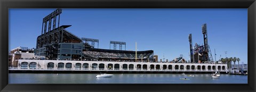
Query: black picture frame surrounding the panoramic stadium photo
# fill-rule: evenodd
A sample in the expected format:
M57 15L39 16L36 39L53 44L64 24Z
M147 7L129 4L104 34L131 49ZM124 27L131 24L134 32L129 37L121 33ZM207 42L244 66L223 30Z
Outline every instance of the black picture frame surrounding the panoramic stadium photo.
M0 0L2 91L255 91L255 0ZM9 8L247 8L248 84L8 84Z

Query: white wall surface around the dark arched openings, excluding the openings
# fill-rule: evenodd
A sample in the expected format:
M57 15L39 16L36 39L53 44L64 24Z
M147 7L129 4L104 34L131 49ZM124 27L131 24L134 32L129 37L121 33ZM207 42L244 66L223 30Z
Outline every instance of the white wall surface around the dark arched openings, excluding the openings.
M225 66L225 71L227 71L227 64L198 64L198 63L153 63L153 62L109 62L109 61L65 61L65 60L19 60L19 63L21 64L22 62L27 62L27 63L31 63L31 62L36 62L37 63L37 68L41 68L41 69L47 69L47 63L54 63L54 69L58 68L58 63L64 63L64 67L66 66L66 63L71 63L72 64L72 68L75 68L75 64L76 63L81 63L81 68L83 68L83 64L84 63L88 63L89 64L89 69L92 68L92 64L93 63L97 63L98 64L98 68L99 68L99 64L103 63L105 70L108 69L107 65L108 64L113 64L113 70L115 68L115 64L119 64L119 69L122 69L123 64L127 64L127 68L129 69L129 64L133 64L133 70L137 70L137 64L141 65L141 70L143 69L143 64L147 65L147 70L150 70L150 65L153 64L154 65L154 69L156 69L156 65L159 64L160 65L160 70L163 70L163 65L167 65L166 69L169 69L169 65L172 65L172 70L175 70L175 65L179 65L179 69L180 69L180 65L183 65L183 70L187 70L186 66L189 65L189 69L191 70L191 67L193 65L195 65L195 70L197 70L197 66L200 65L201 66L201 71L202 66L205 66L205 71L207 71L207 67L210 65L211 69L212 66L215 66L215 69L218 69L218 66L221 66L221 70L222 70L222 66ZM18 66L19 68L19 66ZM222 70L224 71L224 70Z

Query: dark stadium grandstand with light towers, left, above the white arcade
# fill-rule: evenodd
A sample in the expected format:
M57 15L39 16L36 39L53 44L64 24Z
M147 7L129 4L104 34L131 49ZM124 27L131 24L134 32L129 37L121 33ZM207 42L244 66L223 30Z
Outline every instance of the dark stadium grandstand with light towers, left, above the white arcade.
M123 51L122 45L126 43L120 41L110 41L110 44L114 44L114 49L94 48L94 43L99 43L98 39L79 38L66 30L70 26L59 27L58 25L56 28L57 17L60 16L61 12L62 9L58 9L43 19L42 35L37 37L36 55L45 57L46 60L82 59L86 61L134 62L137 61L137 58L140 58L140 62L153 61L154 51L152 50ZM53 23L51 23L52 20ZM47 25L47 23L50 25ZM89 44L90 41L92 44ZM120 45L119 50L116 50L116 44Z

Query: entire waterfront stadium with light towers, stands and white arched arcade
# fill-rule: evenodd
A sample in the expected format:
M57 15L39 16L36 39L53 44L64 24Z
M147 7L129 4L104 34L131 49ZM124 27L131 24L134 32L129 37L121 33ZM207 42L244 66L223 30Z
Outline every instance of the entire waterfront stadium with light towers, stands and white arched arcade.
M193 63L188 63L182 56L170 62L162 62L162 59L158 62L153 50L126 51L126 43L122 41L110 41L110 46L114 45L113 49L96 48L95 43L99 47L99 39L79 38L66 30L70 25L60 26L61 13L62 9L57 9L43 18L41 35L37 37L34 51L37 58L19 58L15 61L17 66L10 68L9 72L228 72L227 64L204 62L212 57L208 54L207 49L210 47L207 43L205 48L198 46L206 49L205 52L198 51L202 56L194 56L191 35L189 42ZM204 38L207 42L207 32L204 32ZM117 45L119 50L116 49ZM197 60L194 57L198 57Z

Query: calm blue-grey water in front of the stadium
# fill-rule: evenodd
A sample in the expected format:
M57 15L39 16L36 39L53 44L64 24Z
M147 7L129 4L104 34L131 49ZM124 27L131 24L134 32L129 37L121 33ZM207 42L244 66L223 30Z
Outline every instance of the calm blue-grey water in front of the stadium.
M211 78L211 74L114 74L111 78L96 78L97 73L9 73L9 83L247 83L247 76L221 74ZM180 78L190 80L180 80Z

